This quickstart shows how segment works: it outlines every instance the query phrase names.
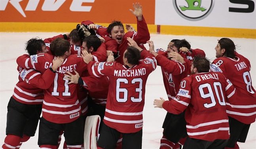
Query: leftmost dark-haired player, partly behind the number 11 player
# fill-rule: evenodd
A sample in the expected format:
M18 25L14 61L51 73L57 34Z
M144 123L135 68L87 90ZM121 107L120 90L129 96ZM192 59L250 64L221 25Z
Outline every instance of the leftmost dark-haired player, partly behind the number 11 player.
M26 51L29 55L47 52L44 41L37 38L27 41ZM53 59L53 65L43 75L34 69L18 66L19 82L15 85L7 107L7 136L3 149L18 149L23 142L34 136L42 112L43 89L49 88L53 83L53 72L61 64L61 59Z

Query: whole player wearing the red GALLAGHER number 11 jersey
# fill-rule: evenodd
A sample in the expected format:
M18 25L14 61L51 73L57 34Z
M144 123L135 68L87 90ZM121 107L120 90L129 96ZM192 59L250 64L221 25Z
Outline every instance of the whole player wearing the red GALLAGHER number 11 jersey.
M76 85L68 85L64 74L67 71L82 73L87 68L83 58L77 55L70 55L70 44L64 39L55 39L51 48L55 56L64 59L63 64L56 70L54 83L45 90L45 97L42 106L42 118L39 126L38 145L41 148L55 149L58 144L60 131L64 130L65 141L70 149L79 149L83 144L83 119L81 107L77 98ZM36 68L44 72L51 66L52 55L47 53L30 57L24 62L24 56L19 57L18 64Z

